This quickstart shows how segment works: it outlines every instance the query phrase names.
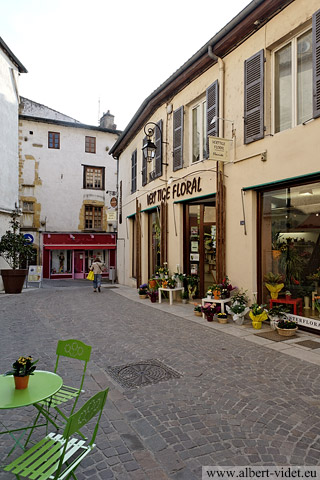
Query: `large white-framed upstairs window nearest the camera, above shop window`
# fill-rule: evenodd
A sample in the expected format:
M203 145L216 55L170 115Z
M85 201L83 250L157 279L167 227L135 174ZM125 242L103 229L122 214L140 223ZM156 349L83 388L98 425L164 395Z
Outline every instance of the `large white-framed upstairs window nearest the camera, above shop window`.
M309 120L312 112L312 30L273 52L273 131Z

